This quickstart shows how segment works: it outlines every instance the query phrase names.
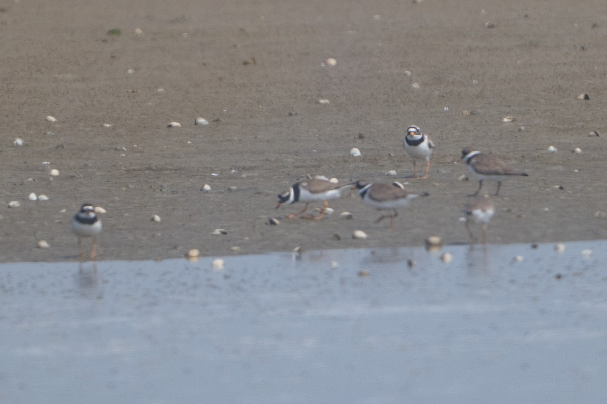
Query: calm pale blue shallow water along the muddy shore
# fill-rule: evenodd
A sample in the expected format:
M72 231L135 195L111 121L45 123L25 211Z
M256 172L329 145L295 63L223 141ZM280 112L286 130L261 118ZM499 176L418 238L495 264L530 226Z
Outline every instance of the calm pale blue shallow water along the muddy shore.
M607 241L553 247L3 264L0 403L607 402Z

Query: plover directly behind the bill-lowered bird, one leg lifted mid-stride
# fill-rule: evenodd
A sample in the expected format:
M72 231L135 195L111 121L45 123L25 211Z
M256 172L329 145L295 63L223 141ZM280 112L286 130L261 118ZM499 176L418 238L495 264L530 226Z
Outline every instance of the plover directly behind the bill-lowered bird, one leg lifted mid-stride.
M386 217L390 217L390 228L394 228L394 218L398 216L396 208L409 205L409 201L412 199L429 196L427 192L410 194L398 183L373 184L359 180L354 186L365 204L382 210L390 210L390 214L384 214L375 220L375 223L379 223Z

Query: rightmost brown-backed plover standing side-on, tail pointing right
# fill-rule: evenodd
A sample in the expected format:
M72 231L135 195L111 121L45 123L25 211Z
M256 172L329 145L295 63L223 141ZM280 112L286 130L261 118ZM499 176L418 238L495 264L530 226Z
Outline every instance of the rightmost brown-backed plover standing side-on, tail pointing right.
M480 191L481 187L483 187L484 179L497 181L497 191L495 191L495 196L498 196L500 194L501 182L507 177L528 176L527 173L521 173L521 171L517 171L514 170L514 168L509 167L494 154L481 153L473 147L466 147L464 150L462 150L461 158L466 160L468 168L478 178L478 190L469 196L478 195L478 191Z

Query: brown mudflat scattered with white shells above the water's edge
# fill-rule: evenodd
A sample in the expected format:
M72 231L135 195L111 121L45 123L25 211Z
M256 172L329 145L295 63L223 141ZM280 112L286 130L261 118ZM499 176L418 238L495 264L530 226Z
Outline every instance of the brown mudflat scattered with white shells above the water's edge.
M3 0L0 260L75 259L83 202L107 210L100 259L467 242L469 145L529 174L495 198L490 243L606 239L606 15L602 0ZM409 179L409 124L436 144L427 180ZM306 174L431 195L395 230L356 194L323 220L286 219L300 206L274 210L276 194Z

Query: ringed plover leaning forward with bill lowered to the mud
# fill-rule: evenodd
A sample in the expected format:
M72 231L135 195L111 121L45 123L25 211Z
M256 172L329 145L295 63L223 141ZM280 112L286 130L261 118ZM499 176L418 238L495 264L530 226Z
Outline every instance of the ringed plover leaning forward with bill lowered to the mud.
M291 187L288 191L279 194L278 205L276 205L276 208L278 209L282 204L304 202L304 209L288 216L290 219L293 219L293 217L297 217L304 213L308 209L308 204L310 202L322 202L324 207L320 210L319 216L315 217L315 219L321 219L323 216L325 216L325 211L329 207L327 200L341 197L342 191L351 187L352 184L344 185L331 182L327 179L303 179L293 184L293 187Z

